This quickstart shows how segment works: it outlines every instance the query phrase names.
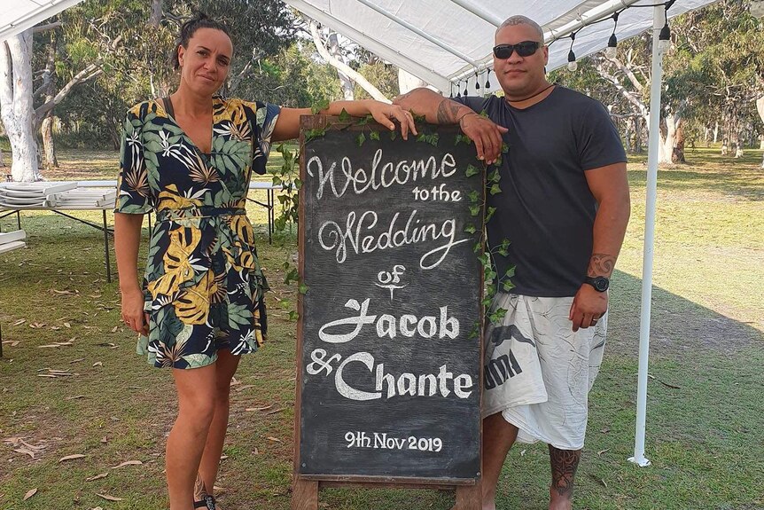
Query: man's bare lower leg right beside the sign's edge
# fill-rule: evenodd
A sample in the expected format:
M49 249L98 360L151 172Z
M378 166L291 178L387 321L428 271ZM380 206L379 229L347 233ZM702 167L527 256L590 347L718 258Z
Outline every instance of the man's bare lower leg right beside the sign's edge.
M518 428L497 412L483 419L483 510L495 510L496 485Z

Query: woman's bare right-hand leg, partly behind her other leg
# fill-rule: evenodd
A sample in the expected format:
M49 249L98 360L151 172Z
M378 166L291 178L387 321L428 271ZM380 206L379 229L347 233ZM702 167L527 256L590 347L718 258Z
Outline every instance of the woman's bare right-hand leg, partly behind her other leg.
M199 475L204 481L208 494L214 493L214 482L217 479L222 446L228 429L230 409L230 381L238 368L240 356L233 356L228 349L217 351L215 362L215 397L214 417L207 434L207 443L199 464Z

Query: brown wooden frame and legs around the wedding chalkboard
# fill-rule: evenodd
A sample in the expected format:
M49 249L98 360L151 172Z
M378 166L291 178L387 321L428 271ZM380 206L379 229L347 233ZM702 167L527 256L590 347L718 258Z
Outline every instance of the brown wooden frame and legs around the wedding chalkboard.
M355 119L357 121L357 119ZM300 118L300 180L306 182L306 158L304 147L306 144L306 133L308 131L329 131L331 129L347 129L349 131L376 130L378 133L387 135L387 129L371 121L363 126L355 126L353 122L341 122L338 117L328 117L325 115L304 115ZM397 129L397 128L396 128ZM398 133L400 136L400 132ZM409 134L409 137L413 135ZM481 165L475 160L476 165ZM484 174L483 174L484 176ZM485 177L483 177L485 179ZM481 203L485 203L485 180L483 180ZM305 203L303 200L304 192L300 192L300 228L298 230L299 239L299 265L300 281L305 276ZM483 211L484 212L484 211ZM484 216L479 216L479 228L483 227ZM477 257L478 254L475 254ZM482 271L480 274L480 288L483 288ZM308 291L309 292L309 291ZM478 296L480 297L480 296ZM435 489L435 490L456 490L456 510L480 510L482 508L482 420L479 420L479 473L474 479L463 478L422 478L409 476L369 476L369 475L307 475L300 474L300 423L302 412L302 386L303 386L303 296L298 298L298 311L300 320L297 331L297 379L296 379L296 400L294 405L294 471L292 483L292 510L318 510L319 490L330 487L367 487L367 488L410 488L410 489ZM479 406L482 405L483 395L483 377L484 366L482 362L482 353L484 350L483 339L483 314L479 314L479 379L477 388L479 391ZM480 408L480 407L479 407Z

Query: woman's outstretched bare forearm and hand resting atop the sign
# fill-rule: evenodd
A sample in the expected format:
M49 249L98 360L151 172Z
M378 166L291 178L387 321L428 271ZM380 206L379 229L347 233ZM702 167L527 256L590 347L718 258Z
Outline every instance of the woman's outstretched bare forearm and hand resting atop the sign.
M361 101L334 101L319 114L339 115L345 110L354 117L363 117L371 114L374 120L385 126L387 129L395 129L393 119L401 123L401 136L403 139L409 138L409 131L417 134L417 126L414 124L414 117L401 106L388 105L373 99L363 99ZM310 108L282 108L278 114L276 126L273 129L271 140L279 142L282 140L291 140L300 136L300 115L312 114Z

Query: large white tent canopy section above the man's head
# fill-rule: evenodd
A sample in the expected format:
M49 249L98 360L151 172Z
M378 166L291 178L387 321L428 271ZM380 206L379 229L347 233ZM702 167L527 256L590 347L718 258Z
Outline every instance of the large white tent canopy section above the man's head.
M713 0L712 0L713 1ZM669 18L712 3L678 0ZM602 50L612 34L613 12L621 12L616 35L622 41L652 26L651 4L635 0L285 0L308 17L345 35L412 75L448 93L452 82L475 73L482 87L493 65L494 34L503 20L522 14L542 26L552 70L567 64L571 32L577 58ZM638 8L642 5L645 8ZM593 21L605 21L591 25ZM555 41L557 39L557 41ZM554 42L554 43L553 43ZM498 84L491 81L490 90ZM485 91L485 90L483 90ZM455 91L456 93L456 91Z

